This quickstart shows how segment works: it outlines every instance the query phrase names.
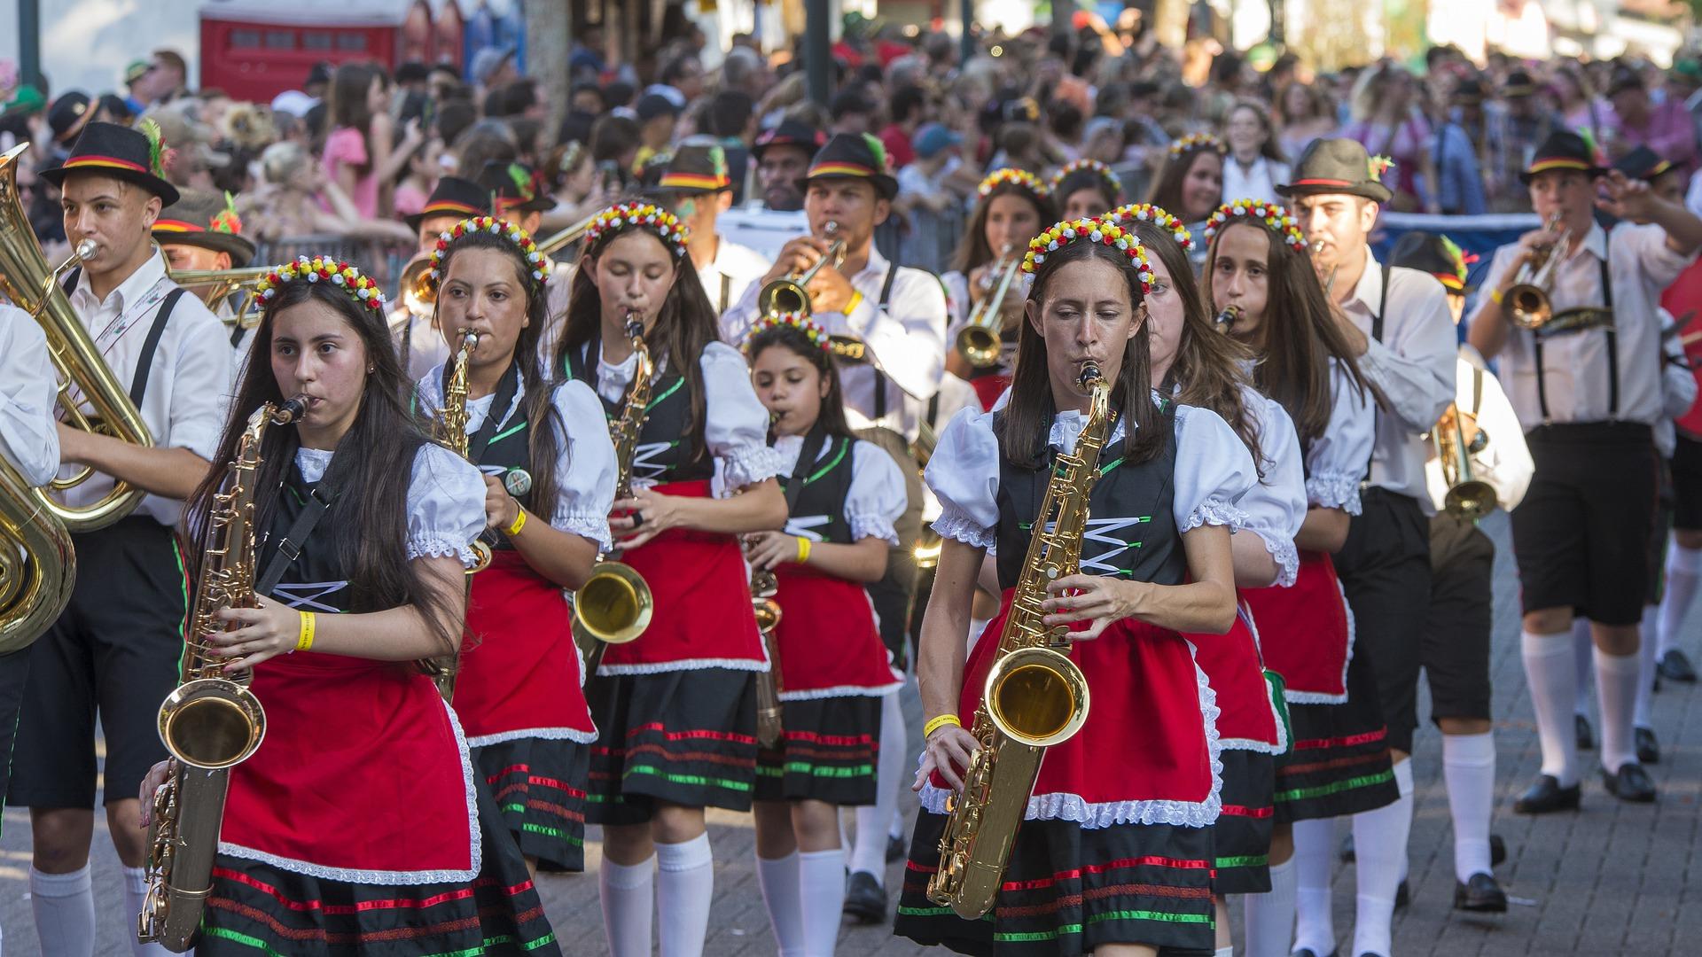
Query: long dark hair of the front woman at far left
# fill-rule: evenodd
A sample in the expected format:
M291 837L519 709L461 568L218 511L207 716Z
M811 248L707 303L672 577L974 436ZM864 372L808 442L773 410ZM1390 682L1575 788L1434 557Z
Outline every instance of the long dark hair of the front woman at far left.
M426 434L408 414L402 397L407 381L397 361L385 315L380 310L356 305L340 286L330 283L288 283L267 303L260 325L254 332L254 347L242 371L237 397L225 422L213 461L218 465L201 480L184 507L182 533L189 543L184 550L201 569L201 542L206 533L213 496L225 480L225 465L237 456L248 415L264 402L288 398L272 376L272 325L277 313L306 301L337 310L344 322L361 337L366 361L373 371L366 376L361 410L337 448L342 455L332 458L323 484L342 489L325 514L322 528L334 530L337 557L349 576L351 611L383 611L403 605L417 606L426 627L448 652L460 639L461 623L451 618L448 603L427 587L424 576L407 559L408 485L414 477L414 460L427 443ZM294 465L301 446L296 431L274 426L260 443L262 463L255 473L255 530L264 535L272 523L279 487Z

